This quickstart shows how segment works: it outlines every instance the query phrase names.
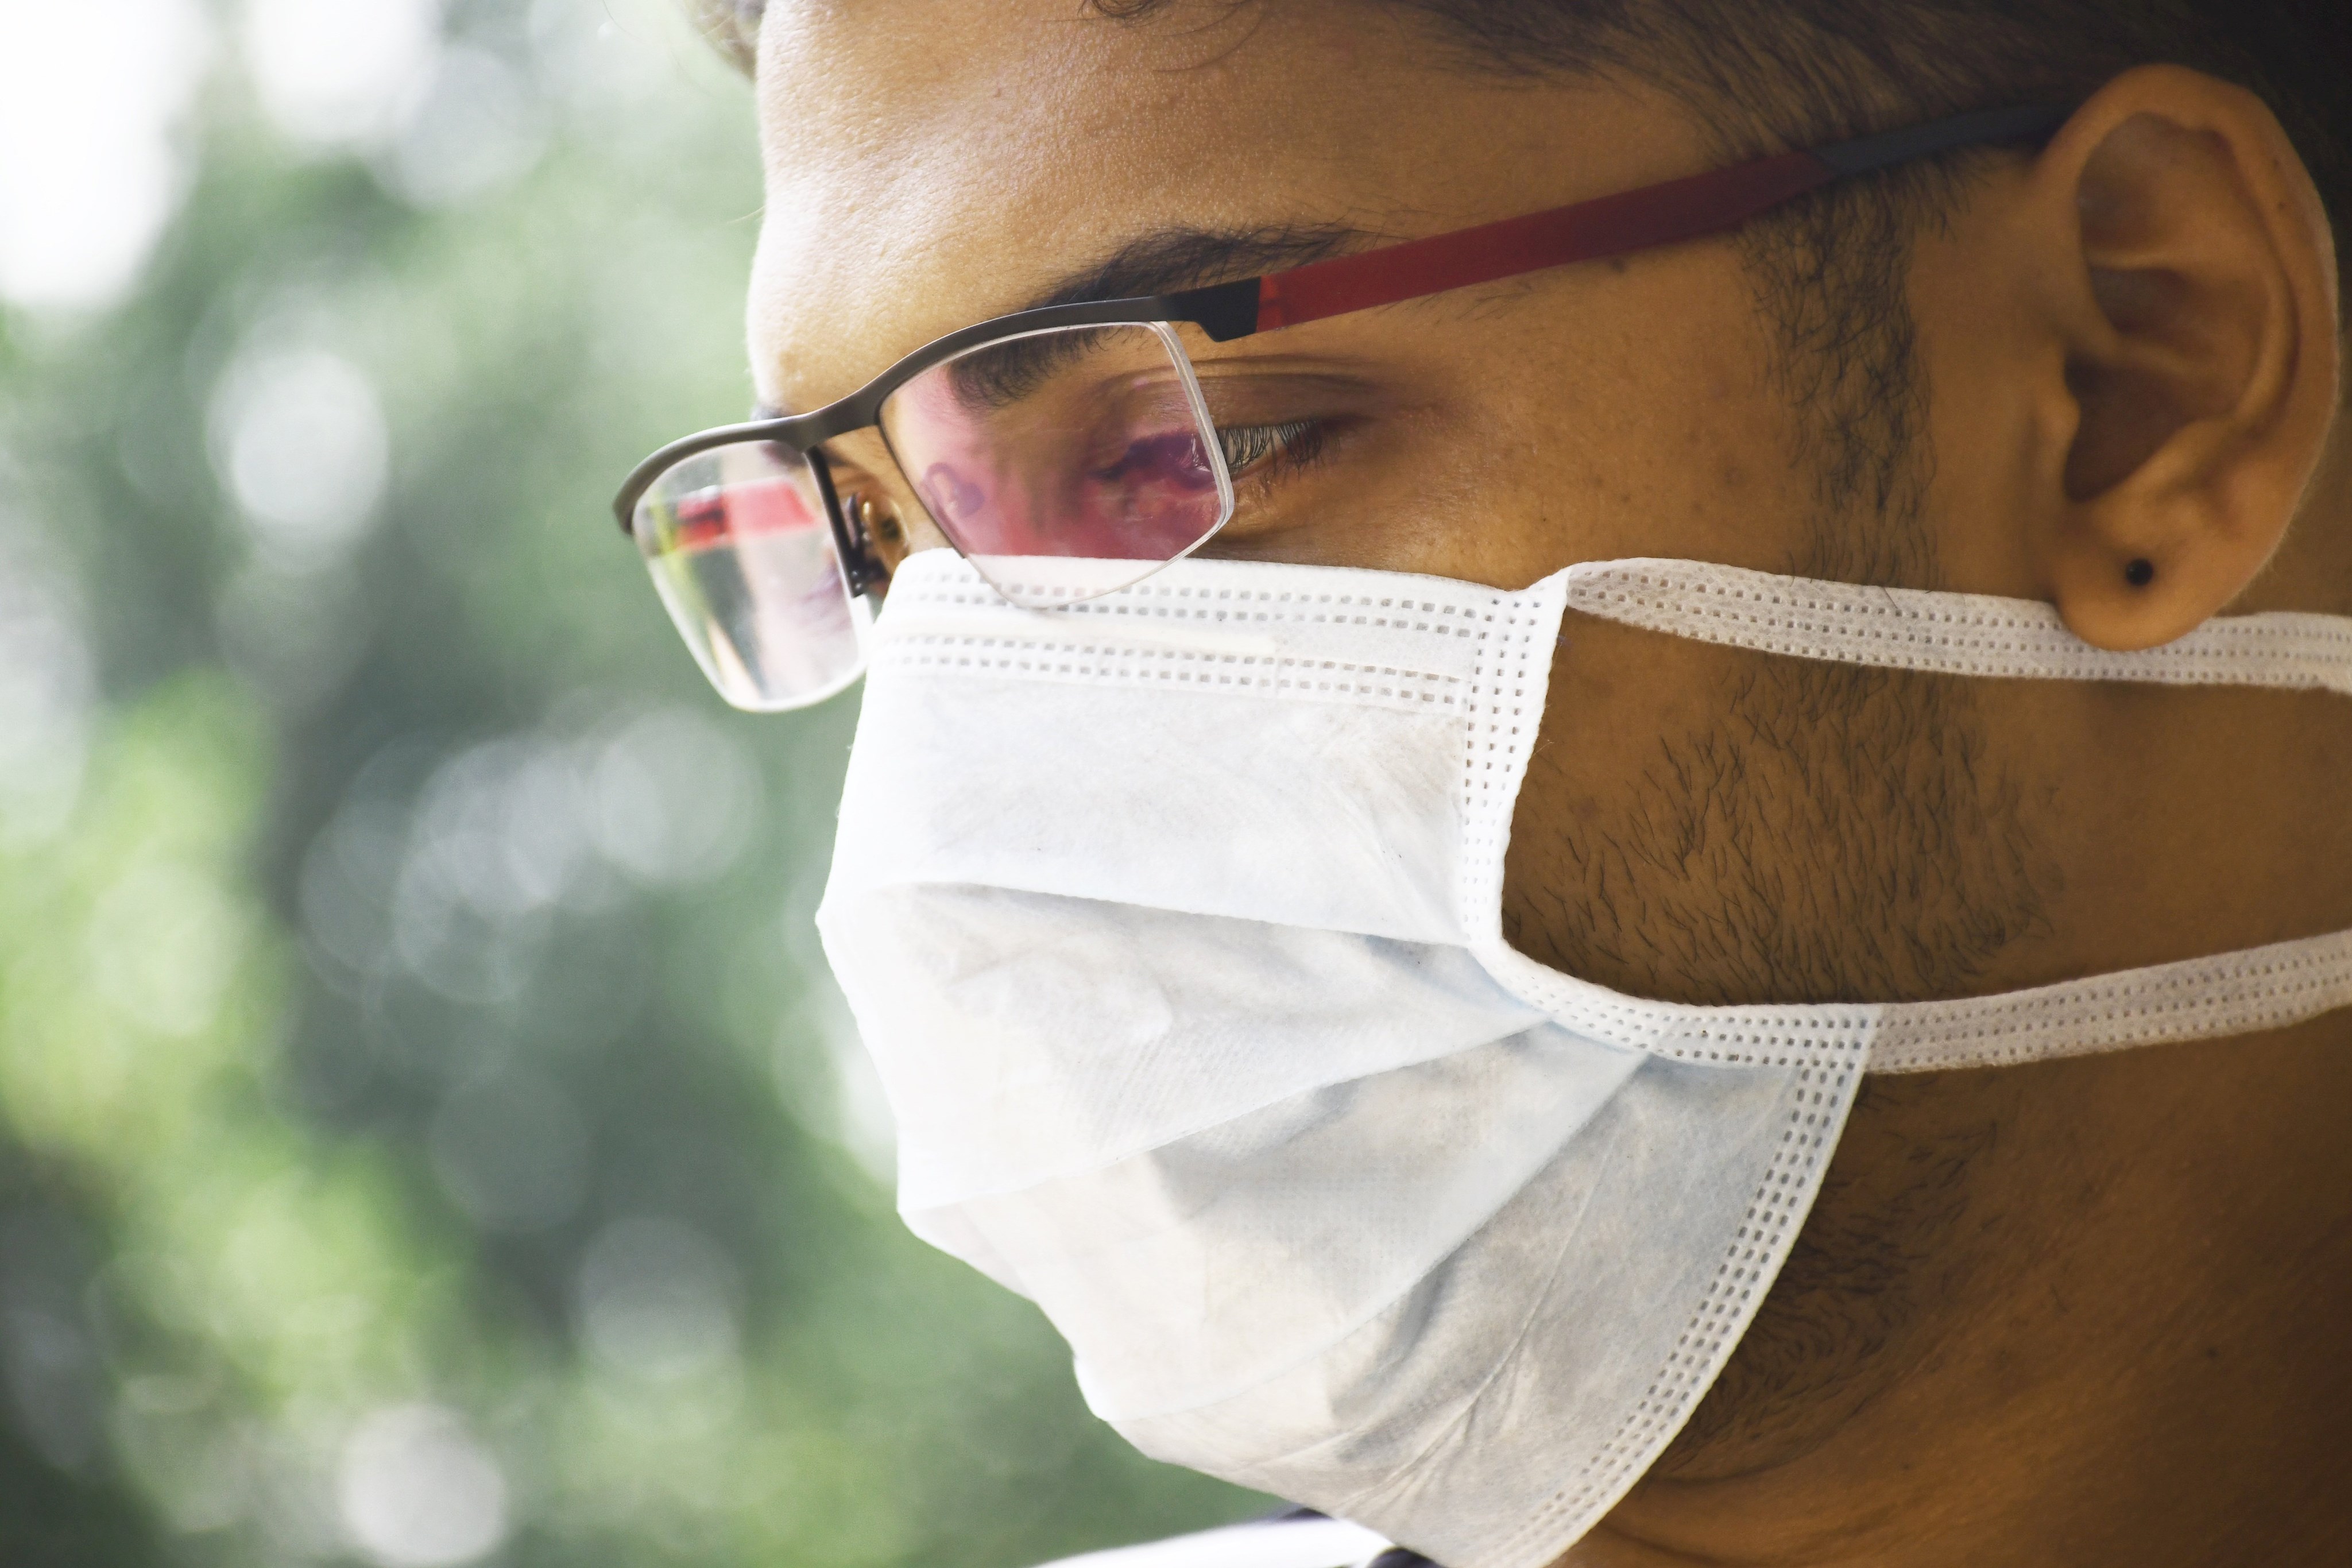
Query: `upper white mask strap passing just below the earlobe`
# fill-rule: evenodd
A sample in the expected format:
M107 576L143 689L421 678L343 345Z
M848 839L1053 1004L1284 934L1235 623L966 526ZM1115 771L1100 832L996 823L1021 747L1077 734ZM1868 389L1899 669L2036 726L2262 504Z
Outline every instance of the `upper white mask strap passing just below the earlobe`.
M2352 696L2352 618L2270 611L2206 621L2161 649L2093 649L2034 599L1863 588L1625 559L1569 567L1569 609L1653 632L1933 675L2288 686Z

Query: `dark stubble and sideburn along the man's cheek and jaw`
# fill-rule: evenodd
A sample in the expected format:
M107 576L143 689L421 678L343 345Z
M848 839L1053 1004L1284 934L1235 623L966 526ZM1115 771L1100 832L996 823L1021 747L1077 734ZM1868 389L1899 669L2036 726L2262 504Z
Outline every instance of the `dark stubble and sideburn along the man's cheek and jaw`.
M1943 581L1910 221L1849 193L1743 237L1802 430L1792 461L1818 496L1795 576ZM1545 771L1538 750L1538 795ZM1976 994L2049 929L2058 889L1957 677L1750 656L1715 719L1661 736L1635 797L1595 820L1548 846L1555 898L1541 919L1515 910L1510 936L1566 973L1679 1001ZM1788 1265L1653 1476L1809 1453L1933 1342L1971 1269L1957 1232L2002 1121L1997 1093L1950 1114L1936 1093L1936 1079L1863 1081Z

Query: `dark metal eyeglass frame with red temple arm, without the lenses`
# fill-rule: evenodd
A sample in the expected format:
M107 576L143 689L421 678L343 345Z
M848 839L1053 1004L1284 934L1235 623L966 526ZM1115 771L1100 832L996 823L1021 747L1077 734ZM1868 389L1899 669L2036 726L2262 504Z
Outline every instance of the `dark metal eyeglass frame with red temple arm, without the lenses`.
M2065 125L2070 113L2070 108L2051 103L1987 108L1875 136L1773 153L1569 207L1550 207L1517 219L1310 261L1282 273L1263 273L1258 277L1169 294L1040 306L1035 310L997 315L931 339L858 390L821 409L713 425L710 430L668 442L628 473L612 503L614 517L621 522L621 534L635 536L637 503L663 473L684 458L739 442L786 447L807 461L816 489L826 501L826 520L833 527L842 578L851 595L861 595L887 585L889 571L875 559L863 524L844 515L823 442L854 430L877 428L882 423L882 404L889 402L891 393L943 360L1007 339L1070 327L1174 327L1183 322L1200 327L1211 343L1235 343L1261 331L1279 331L1282 327L1319 322L1374 306L1395 306L1409 299L1501 282L1576 261L1606 261L1661 244L1726 233L1783 202L1856 174L1872 174L1969 146L2046 141Z

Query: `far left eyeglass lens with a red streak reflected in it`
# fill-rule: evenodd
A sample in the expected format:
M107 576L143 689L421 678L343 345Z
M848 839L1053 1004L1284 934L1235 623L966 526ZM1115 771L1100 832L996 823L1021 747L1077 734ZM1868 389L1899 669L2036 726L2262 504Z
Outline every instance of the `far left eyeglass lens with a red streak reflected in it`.
M736 708L807 708L858 677L868 609L795 454L743 442L684 458L637 503L635 536L670 621Z

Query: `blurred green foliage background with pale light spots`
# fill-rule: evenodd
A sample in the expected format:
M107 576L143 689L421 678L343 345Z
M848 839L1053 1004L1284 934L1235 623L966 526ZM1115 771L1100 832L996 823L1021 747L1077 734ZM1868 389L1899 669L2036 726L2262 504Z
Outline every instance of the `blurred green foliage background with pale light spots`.
M668 0L0 0L0 1563L995 1568L1251 1512L903 1234L847 696L604 505L748 404Z

